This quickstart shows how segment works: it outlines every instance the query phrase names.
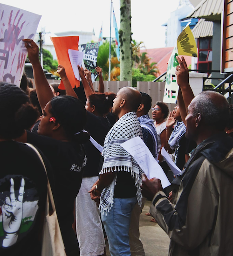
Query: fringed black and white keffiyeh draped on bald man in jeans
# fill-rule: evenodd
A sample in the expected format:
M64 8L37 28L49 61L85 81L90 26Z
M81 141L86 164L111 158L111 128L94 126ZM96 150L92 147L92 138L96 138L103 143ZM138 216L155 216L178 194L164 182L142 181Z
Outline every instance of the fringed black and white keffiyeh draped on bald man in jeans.
M143 139L142 128L137 120L136 112L129 112L121 117L107 134L103 145L103 167L99 174L110 172L130 172L135 178L137 187L137 200L141 204L142 193L142 169L136 160L121 144L131 138L139 136ZM112 183L105 187L100 196L100 211L107 215L113 205L114 188L117 181L117 173Z

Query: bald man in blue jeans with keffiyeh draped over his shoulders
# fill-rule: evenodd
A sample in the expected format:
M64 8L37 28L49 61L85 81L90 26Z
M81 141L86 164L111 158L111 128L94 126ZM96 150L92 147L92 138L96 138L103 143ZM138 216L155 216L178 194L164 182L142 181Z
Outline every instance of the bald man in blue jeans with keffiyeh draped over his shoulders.
M142 129L137 120L141 104L140 92L124 87L113 101L112 112L119 117L107 134L103 146L103 167L100 178L90 191L91 198L100 198L102 221L111 256L130 256L130 214L136 203L141 204L142 170L121 144L139 136Z

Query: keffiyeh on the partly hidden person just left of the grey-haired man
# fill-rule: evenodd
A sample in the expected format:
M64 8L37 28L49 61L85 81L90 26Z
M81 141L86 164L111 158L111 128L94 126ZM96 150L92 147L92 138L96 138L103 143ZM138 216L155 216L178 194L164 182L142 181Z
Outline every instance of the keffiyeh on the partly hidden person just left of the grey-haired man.
M171 149L176 149L179 146L180 139L185 135L186 126L181 121L177 121L176 125L174 126L174 130L171 132L171 136L168 140L168 144Z

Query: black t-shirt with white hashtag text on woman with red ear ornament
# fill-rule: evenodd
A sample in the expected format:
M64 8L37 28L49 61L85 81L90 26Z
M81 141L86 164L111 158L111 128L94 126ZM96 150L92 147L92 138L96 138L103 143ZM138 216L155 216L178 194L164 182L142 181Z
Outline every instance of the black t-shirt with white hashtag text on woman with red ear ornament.
M74 222L74 202L82 182L84 151L75 142L63 142L27 131L27 142L48 158L55 179L55 206L61 231Z

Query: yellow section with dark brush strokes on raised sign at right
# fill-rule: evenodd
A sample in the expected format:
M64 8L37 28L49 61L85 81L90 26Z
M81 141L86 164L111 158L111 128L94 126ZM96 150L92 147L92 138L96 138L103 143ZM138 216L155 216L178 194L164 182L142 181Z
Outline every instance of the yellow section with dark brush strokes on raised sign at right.
M192 31L189 25L187 25L178 36L177 50L178 55L186 55L192 57L198 56L196 41L192 35Z

